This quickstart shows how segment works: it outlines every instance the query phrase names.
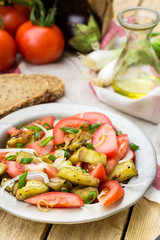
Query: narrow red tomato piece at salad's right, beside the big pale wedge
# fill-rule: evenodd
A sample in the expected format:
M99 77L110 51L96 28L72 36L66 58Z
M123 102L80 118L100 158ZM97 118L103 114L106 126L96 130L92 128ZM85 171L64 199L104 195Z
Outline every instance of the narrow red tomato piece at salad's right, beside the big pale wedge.
M128 148L128 135L127 134L121 134L117 136L117 145L118 145L118 157L119 160L123 158L123 156L127 152Z

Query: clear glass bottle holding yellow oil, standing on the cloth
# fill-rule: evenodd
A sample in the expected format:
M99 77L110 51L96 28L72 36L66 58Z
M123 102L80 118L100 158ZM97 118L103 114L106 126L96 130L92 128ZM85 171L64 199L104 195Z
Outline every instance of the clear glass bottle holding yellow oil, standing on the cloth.
M127 41L116 64L113 88L132 99L145 96L160 86L160 61L150 44L159 14L149 8L128 8L118 14Z

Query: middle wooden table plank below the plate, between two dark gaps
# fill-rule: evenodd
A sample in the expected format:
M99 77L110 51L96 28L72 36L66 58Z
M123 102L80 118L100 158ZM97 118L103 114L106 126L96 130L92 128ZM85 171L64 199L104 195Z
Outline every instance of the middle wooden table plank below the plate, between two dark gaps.
M47 240L120 240L128 220L129 209L104 220L76 224L53 225Z

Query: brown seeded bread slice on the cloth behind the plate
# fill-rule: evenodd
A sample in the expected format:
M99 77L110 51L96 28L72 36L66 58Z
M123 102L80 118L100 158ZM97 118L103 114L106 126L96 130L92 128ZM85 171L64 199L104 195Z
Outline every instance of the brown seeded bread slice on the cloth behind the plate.
M64 95L61 79L49 75L0 75L0 118L17 109L53 101Z

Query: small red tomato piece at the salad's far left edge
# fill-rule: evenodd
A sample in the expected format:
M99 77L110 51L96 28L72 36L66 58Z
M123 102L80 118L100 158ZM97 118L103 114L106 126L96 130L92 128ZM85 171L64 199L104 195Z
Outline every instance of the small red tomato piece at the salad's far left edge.
M6 161L7 169L6 172L12 177L16 177L25 172L24 167L15 161Z

